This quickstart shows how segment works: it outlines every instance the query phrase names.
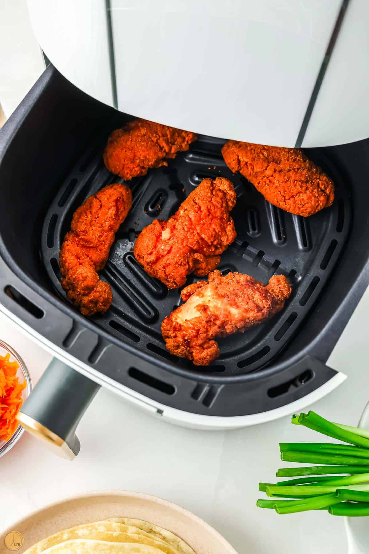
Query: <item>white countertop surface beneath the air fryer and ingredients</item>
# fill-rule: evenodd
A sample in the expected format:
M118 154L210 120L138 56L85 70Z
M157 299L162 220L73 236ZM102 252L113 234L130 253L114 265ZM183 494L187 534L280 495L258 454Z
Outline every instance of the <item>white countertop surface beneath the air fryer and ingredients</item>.
M12 40L15 35L22 40ZM2 7L0 61L0 102L9 116L42 71L25 0ZM356 424L368 400L368 312L369 291L330 358L330 365L349 378L313 406L328 419ZM19 352L35 384L50 355L1 314L0 338ZM101 389L77 435L81 452L72 462L56 458L27 433L1 458L0 532L66 496L128 489L162 496L195 512L240 554L347 552L339 517L325 512L278 516L256 507L257 498L264 497L258 481L273 482L276 470L288 465L279 460L278 442L316 440L308 429L292 426L289 417L226 432L184 429Z

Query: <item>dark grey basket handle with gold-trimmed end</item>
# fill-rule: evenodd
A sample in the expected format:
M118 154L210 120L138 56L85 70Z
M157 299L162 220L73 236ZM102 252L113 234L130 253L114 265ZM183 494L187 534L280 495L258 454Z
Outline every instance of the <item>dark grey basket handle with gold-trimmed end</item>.
M81 447L76 427L99 388L99 384L53 358L17 419L55 454L72 460Z

